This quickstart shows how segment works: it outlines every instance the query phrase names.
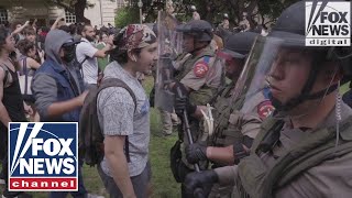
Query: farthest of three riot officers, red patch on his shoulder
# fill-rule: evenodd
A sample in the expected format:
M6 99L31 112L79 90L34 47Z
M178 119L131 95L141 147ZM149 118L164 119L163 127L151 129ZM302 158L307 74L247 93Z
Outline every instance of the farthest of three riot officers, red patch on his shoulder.
M224 82L223 68L219 63L216 63L215 52L210 47L212 26L207 21L193 20L178 25L176 31L183 33L184 54L175 61L177 75L175 82L170 84L170 89L175 91L176 96L178 96L177 90L182 90L183 96L186 96L194 105L206 106ZM179 117L184 119L183 114ZM196 119L190 119L189 122L193 139L197 141L199 123ZM179 140L173 151L184 153L184 146L188 144L187 135L184 132L185 130L179 133ZM193 172L194 166L186 161L185 154L179 160L176 160L177 156L175 153L172 154L172 170L176 180L183 183L186 174ZM206 168L206 166L207 162L200 163L201 168Z

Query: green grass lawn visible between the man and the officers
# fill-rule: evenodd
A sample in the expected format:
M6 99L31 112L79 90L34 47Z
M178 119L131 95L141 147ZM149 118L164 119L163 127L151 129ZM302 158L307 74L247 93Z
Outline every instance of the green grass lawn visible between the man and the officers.
M148 94L153 87L153 78L147 77L143 82ZM154 198L177 198L179 195L179 184L177 184L169 169L169 150L176 142L177 136L157 136L161 129L161 118L158 111L151 109L151 144L150 157L152 165L152 188ZM96 167L84 166L84 180L87 190L91 194L109 197L100 180ZM46 193L31 193L34 198L47 197Z

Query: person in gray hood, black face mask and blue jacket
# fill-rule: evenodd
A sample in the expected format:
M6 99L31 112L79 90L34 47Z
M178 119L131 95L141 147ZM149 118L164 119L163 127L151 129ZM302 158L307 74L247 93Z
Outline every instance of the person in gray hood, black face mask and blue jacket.
M62 30L52 30L45 40L46 61L36 70L32 90L35 107L42 122L78 122L80 107L87 96L78 65L75 65L75 45L77 42ZM80 163L81 164L81 163ZM62 198L68 193L53 191L51 198ZM78 168L78 191L73 197L87 196Z

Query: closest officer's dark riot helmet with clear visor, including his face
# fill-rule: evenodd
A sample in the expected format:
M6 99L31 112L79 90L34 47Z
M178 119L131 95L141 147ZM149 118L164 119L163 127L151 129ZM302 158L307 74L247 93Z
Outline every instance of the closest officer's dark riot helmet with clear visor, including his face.
M327 2L321 1L320 9ZM270 88L278 112L298 116L304 112L296 107L321 101L337 90L341 72L351 76L351 47L306 46L305 10L315 9L317 3L312 1L309 8L305 1L294 3L284 10L268 36L258 36L238 80L237 97L248 100ZM309 108L314 107L307 106L307 111Z

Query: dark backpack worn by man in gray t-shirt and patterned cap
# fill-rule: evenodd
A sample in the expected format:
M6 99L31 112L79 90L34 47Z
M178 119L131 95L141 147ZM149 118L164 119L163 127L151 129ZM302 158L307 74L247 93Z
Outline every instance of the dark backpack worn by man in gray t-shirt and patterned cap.
M79 117L79 157L86 162L87 165L99 165L103 158L103 133L100 129L97 98L101 90L108 87L122 87L128 90L134 102L134 110L136 109L136 99L132 89L122 80L118 78L105 79L99 87L91 88L85 99L84 106ZM129 138L124 142L125 156L130 162L129 153Z

